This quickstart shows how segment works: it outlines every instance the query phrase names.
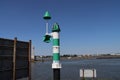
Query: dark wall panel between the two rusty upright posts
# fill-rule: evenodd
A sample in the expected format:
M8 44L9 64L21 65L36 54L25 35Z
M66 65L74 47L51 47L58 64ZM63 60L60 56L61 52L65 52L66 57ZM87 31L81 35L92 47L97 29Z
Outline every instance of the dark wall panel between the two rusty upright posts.
M16 78L19 79L28 76L29 43L17 41L16 47Z

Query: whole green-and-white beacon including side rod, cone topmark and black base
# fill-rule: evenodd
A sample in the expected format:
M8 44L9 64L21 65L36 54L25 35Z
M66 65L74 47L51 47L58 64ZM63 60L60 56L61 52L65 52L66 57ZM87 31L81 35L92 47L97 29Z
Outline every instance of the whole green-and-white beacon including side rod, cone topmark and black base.
M46 34L44 36L43 41L46 43L49 43L51 38L53 38L53 63L52 63L52 69L53 69L53 80L60 80L60 27L57 23L53 25L52 33L48 33L48 20L51 19L51 16L48 11L45 12L45 15L43 17L46 22Z

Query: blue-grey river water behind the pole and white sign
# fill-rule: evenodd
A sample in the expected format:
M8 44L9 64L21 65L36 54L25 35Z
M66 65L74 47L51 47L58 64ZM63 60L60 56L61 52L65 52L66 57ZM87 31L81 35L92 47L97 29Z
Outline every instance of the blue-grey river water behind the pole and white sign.
M80 69L96 69L94 80L120 80L120 59L61 61L61 80L82 80ZM52 61L32 63L32 80L53 80Z

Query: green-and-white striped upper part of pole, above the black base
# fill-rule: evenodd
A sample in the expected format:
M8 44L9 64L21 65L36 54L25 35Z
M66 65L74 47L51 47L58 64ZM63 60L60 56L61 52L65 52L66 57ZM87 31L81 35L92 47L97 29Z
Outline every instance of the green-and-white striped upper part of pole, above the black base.
M60 40L59 40L60 28L57 23L53 25L52 37L53 37L53 64L52 68L61 68L60 64Z

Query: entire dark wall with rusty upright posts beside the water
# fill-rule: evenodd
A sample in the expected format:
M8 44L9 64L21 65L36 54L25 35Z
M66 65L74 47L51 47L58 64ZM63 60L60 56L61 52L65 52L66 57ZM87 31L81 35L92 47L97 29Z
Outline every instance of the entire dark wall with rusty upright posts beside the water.
M0 80L31 80L31 40L29 42L0 38Z

